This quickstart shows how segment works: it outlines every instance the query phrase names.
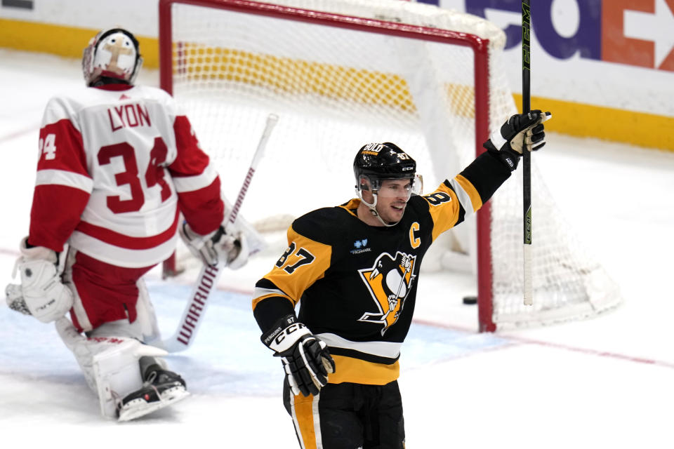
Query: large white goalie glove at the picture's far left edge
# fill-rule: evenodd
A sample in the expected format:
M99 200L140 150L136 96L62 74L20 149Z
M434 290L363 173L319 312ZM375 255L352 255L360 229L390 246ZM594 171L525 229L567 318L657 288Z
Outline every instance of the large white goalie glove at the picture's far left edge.
M29 246L28 237L21 241L20 250L12 277L18 270L21 285L9 284L5 289L8 306L43 323L64 316L72 307L72 292L61 282L58 254L44 246Z

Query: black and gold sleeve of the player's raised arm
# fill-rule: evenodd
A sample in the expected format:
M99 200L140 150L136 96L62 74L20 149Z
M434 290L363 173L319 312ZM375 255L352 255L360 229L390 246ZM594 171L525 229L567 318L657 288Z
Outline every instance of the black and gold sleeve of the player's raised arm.
M510 170L484 152L435 192L423 196L433 222L432 240L477 212L510 177Z

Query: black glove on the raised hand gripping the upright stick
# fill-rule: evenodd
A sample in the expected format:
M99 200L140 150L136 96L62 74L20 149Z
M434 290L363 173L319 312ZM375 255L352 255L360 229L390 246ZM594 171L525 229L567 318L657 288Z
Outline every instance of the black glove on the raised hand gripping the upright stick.
M501 159L510 171L513 171L520 161L523 147L529 151L536 151L546 145L543 122L551 119L552 116L550 112L541 113L540 109L534 109L529 114L515 114L503 123L501 130L494 132L482 146Z

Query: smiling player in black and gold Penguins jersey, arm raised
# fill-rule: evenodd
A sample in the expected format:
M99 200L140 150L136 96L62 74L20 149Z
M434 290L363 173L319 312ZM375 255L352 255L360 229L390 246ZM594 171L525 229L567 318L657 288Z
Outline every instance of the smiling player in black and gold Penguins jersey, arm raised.
M425 196L409 154L365 145L353 163L358 198L293 222L285 253L256 283L253 313L282 360L300 447L404 448L398 358L423 255L491 198L523 150L543 147L549 118L510 117L487 152Z

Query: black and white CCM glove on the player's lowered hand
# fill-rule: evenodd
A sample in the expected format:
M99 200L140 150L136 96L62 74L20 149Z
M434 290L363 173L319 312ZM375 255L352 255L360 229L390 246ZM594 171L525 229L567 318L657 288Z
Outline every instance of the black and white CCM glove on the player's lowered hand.
M275 351L275 356L281 357L286 378L296 396L319 394L328 383L328 374L335 372L335 362L325 342L299 323L293 314L279 319L260 340Z

